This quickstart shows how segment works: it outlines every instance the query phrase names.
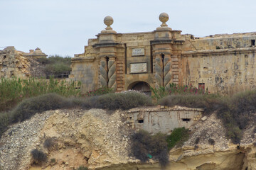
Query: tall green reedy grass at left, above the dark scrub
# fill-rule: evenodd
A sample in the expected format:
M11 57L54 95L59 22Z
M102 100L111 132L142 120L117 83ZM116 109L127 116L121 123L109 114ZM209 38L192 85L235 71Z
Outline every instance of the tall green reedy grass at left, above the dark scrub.
M52 77L50 80L45 79L0 79L0 112L7 111L24 98L40 96L48 93L60 94L61 96L78 96L79 89L74 81L65 80L57 81Z

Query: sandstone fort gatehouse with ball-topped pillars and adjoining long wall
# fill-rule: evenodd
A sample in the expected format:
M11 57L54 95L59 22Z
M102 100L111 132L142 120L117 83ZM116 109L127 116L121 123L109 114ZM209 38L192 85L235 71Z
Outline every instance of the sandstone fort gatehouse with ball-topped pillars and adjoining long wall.
M70 79L81 81L83 91L109 86L146 92L170 83L220 94L255 88L256 33L196 38L169 28L167 13L159 20L151 32L117 33L107 16L107 28L73 58Z

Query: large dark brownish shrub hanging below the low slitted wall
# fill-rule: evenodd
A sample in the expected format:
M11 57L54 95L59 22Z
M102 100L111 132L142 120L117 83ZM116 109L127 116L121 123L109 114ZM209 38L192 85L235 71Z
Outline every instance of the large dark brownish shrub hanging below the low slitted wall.
M166 166L169 162L166 136L158 133L149 135L149 132L140 130L131 137L130 155L136 157L141 162L146 162L149 157L158 160L161 166Z

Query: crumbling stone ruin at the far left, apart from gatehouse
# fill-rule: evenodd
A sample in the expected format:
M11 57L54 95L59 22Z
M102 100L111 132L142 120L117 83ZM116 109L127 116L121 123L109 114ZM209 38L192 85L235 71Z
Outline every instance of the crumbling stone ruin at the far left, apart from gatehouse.
M17 51L13 46L0 50L0 78L31 76L31 60L46 57L40 48L29 53Z

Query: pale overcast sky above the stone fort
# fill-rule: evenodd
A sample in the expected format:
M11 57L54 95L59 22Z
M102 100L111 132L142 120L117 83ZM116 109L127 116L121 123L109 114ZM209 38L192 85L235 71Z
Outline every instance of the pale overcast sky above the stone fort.
M0 50L14 46L46 55L83 52L112 16L117 33L153 31L159 14L167 24L199 37L256 30L256 0L0 0Z

